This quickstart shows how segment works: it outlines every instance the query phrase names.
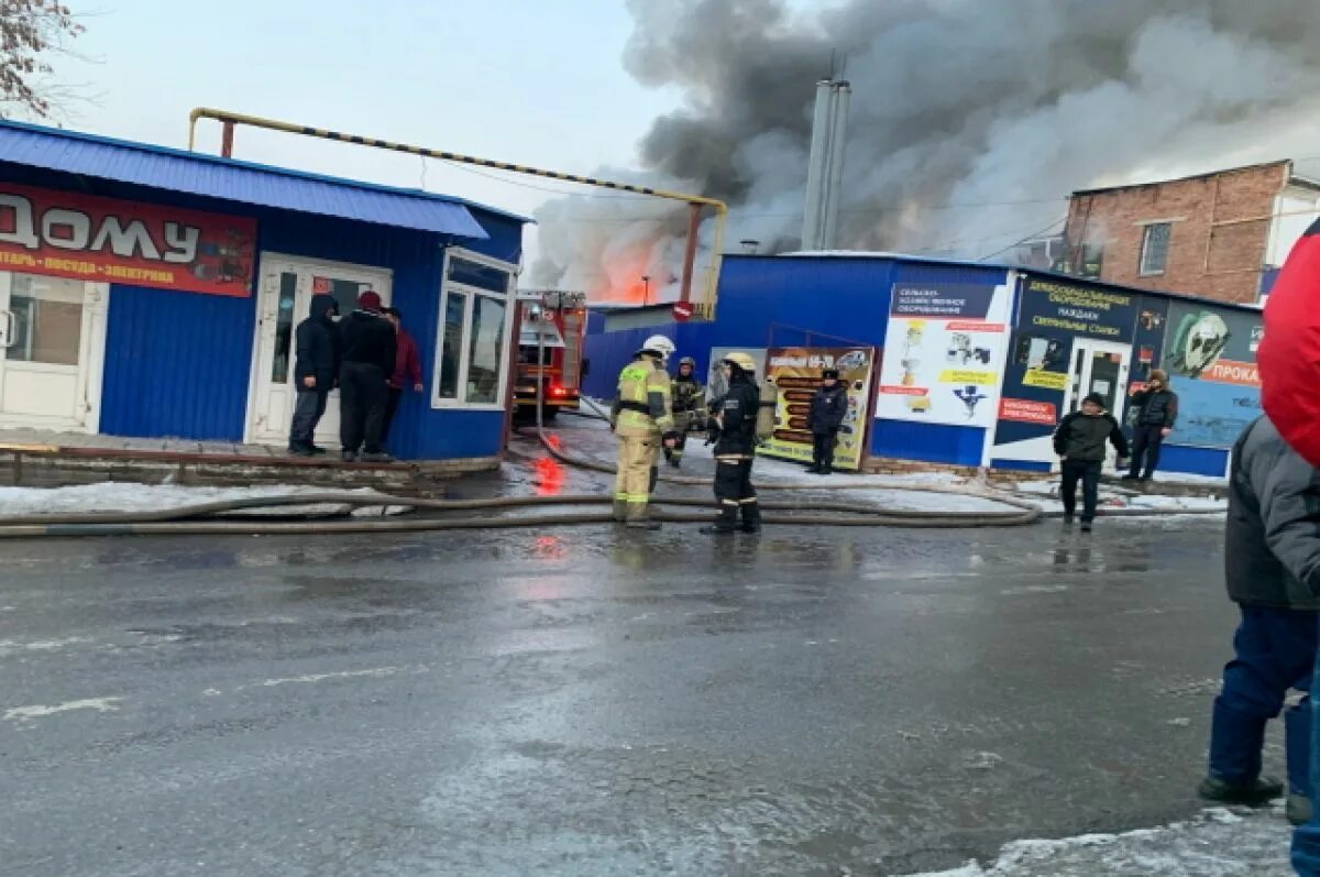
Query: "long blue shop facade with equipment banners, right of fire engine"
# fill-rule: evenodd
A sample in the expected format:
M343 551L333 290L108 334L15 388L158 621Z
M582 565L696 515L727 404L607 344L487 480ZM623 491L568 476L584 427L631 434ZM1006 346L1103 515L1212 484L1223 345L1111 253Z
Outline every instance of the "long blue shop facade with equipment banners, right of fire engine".
M649 318L648 318L649 317ZM890 254L727 256L715 318L667 308L591 316L586 392L648 334L711 363L729 349L875 349L873 458L1049 472L1059 420L1098 392L1125 424L1129 396L1163 368L1181 413L1160 469L1210 477L1261 413L1258 308L1052 272Z

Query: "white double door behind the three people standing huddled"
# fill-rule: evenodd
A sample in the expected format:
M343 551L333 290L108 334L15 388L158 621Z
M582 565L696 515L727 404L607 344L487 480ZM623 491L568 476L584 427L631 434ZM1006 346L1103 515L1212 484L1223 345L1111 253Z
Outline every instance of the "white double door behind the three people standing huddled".
M312 296L334 296L339 302L339 314L347 316L358 306L358 296L368 289L389 304L391 272L368 265L261 255L248 441L269 445L289 441L289 423L297 398L294 332L312 313ZM315 441L331 445L339 441L338 390L330 394Z

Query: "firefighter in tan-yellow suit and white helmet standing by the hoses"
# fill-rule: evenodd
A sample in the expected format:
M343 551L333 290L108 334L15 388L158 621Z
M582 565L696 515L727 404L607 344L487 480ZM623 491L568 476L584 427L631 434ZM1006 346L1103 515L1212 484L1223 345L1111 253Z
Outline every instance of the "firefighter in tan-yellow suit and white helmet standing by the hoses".
M673 342L664 335L647 338L619 372L619 394L610 411L610 428L619 436L614 519L636 530L659 530L648 503L656 483L656 456L663 444L676 441L665 359Z

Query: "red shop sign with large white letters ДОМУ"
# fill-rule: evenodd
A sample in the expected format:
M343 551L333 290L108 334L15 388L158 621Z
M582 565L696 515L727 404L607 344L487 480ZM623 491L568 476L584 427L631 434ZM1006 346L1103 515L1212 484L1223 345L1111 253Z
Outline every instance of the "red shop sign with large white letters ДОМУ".
M252 295L256 219L0 184L0 268Z

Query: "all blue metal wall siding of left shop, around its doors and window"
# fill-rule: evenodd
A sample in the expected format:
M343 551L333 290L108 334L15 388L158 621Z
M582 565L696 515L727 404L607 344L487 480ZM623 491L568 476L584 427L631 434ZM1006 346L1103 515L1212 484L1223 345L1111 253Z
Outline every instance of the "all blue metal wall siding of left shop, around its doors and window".
M244 207L141 186L50 172L0 178L87 194L255 217L259 250L329 259L393 272L393 301L404 312L422 361L425 394L407 394L392 445L404 458L486 457L499 453L503 412L434 411L430 375L440 309L441 235L263 207ZM490 240L459 242L517 263L516 221L473 209ZM139 437L240 441L246 427L256 296L224 298L168 289L114 287L107 328L102 432Z

